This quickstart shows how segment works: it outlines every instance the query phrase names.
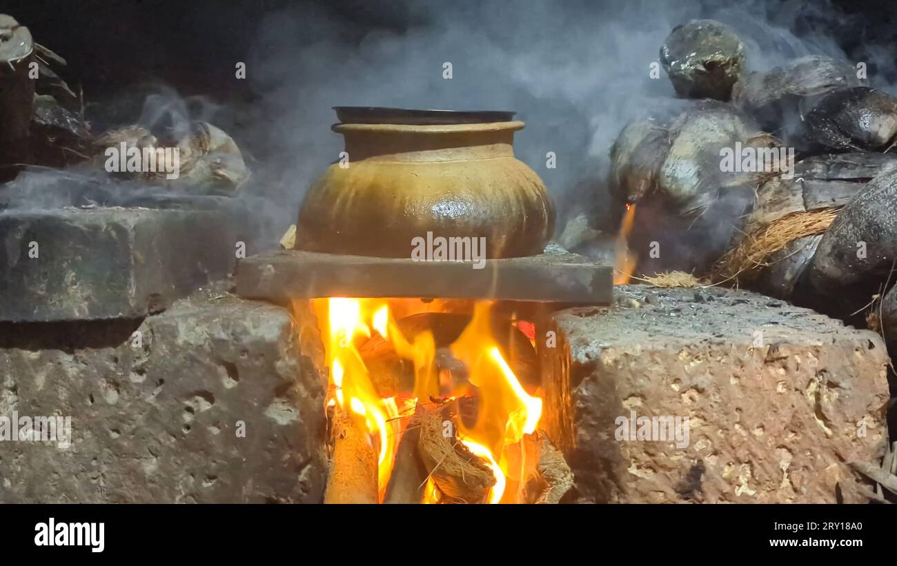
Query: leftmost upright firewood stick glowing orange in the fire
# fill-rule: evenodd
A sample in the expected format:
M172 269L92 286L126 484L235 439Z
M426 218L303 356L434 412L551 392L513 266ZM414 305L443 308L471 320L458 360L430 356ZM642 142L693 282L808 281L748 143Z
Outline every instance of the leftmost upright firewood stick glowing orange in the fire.
M377 453L352 416L333 418L333 455L327 475L325 503L377 503Z

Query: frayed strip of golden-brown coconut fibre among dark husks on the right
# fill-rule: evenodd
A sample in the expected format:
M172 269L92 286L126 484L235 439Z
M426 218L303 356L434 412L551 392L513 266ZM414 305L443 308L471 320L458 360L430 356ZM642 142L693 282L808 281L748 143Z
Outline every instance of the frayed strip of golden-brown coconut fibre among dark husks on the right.
M713 270L713 279L751 279L769 265L773 253L804 236L822 234L832 225L838 210L793 212L749 233L735 248L723 254Z

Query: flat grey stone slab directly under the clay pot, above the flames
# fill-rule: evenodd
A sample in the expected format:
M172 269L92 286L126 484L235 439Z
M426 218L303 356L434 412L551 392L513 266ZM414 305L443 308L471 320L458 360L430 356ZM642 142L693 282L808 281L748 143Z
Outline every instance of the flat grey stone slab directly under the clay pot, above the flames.
M471 263L414 262L289 250L241 260L237 293L283 301L320 296L495 298L608 304L613 268L549 244L542 255Z

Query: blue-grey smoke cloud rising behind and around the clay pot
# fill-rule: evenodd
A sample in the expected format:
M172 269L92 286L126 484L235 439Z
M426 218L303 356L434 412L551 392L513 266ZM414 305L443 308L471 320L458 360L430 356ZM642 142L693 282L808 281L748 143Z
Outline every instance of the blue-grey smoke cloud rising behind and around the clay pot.
M834 39L815 28L799 39L791 31L796 21L817 28L832 21L837 12L831 6L389 4L401 16L394 29L360 31L326 14L292 11L272 14L258 30L248 78L261 114L272 118L264 124L260 159L285 165L265 179L279 214L293 217L306 188L342 150L329 130L331 107L499 109L515 110L527 123L515 140L518 159L542 176L562 216L590 210L600 226L608 219L600 205L607 200L614 138L631 118L675 96L666 73L652 79L649 65L676 25L694 18L726 22L744 40L751 70L811 53L845 58ZM451 79L443 77L445 63ZM546 167L549 151L557 156L553 169Z

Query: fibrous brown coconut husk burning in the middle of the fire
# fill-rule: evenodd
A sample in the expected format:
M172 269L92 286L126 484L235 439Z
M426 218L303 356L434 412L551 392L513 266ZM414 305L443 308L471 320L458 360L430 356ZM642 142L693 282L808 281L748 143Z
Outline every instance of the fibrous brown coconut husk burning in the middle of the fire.
M492 469L457 440L455 425L450 427L452 433L445 433L444 421L447 419L440 411L419 411L419 415L421 438L418 450L440 492L456 502L483 502L495 485Z

